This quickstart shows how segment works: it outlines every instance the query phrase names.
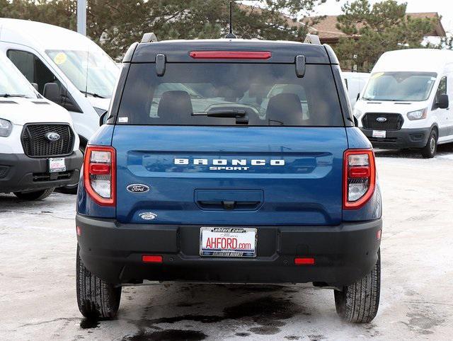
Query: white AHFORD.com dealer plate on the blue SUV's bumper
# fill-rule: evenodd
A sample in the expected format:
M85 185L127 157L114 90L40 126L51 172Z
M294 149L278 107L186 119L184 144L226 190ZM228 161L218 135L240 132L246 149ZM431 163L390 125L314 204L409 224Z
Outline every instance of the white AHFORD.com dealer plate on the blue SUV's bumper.
M210 257L256 257L256 229L202 227L200 255Z

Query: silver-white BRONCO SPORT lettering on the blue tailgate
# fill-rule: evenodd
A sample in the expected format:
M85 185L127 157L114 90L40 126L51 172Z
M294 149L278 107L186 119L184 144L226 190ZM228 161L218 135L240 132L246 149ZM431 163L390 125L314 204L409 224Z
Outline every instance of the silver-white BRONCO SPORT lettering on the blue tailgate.
M175 158L175 165L193 165L193 166L210 166L210 171L248 171L250 166L285 166L285 160L265 160L261 158L247 160L246 158L233 158L226 160L226 158L214 158L209 160L207 158Z

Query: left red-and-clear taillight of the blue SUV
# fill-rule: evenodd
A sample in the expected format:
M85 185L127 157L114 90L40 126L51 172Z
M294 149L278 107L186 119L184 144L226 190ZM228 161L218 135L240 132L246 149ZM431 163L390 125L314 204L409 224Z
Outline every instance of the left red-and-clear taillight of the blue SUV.
M84 157L84 186L96 204L115 206L115 149L87 146Z

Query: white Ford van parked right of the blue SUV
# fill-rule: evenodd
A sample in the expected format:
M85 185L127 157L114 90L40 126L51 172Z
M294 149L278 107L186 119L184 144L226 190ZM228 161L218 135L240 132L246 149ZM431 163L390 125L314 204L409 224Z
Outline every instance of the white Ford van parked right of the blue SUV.
M382 54L354 108L373 146L419 149L432 158L453 142L453 51L398 50Z

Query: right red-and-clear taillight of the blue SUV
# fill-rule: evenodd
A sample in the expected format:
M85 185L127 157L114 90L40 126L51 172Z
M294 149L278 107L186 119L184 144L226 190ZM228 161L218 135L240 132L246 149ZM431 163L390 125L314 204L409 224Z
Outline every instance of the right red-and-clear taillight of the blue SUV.
M376 187L376 166L372 150L345 151L343 184L343 209L359 209L367 203Z

